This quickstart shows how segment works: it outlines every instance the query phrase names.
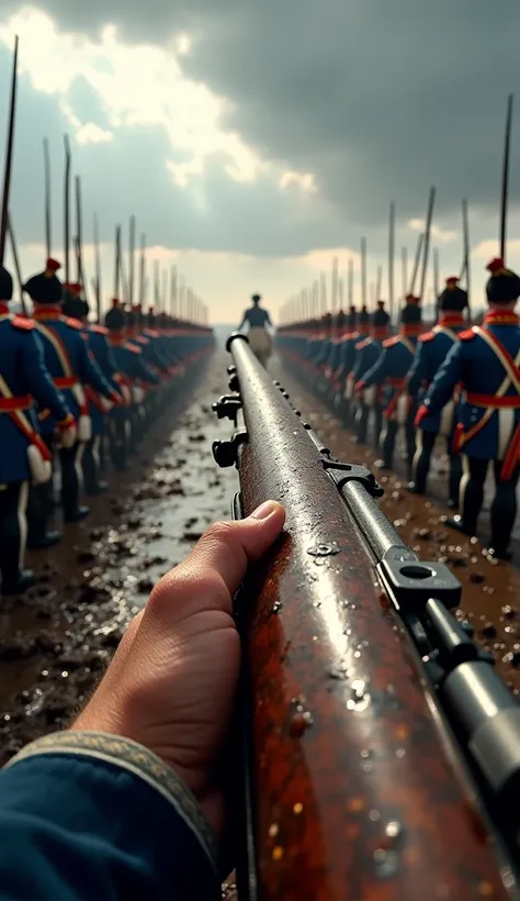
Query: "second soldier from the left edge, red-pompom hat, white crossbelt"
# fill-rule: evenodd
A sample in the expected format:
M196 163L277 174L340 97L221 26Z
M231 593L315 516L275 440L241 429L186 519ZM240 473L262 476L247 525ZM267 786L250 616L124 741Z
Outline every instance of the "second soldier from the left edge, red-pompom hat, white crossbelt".
M29 279L24 290L34 303L35 327L43 343L44 358L57 388L64 391L67 405L78 421L78 441L72 447L59 448L61 467L61 505L65 522L82 520L88 507L79 503L79 460L84 443L91 437L89 408L83 385L90 385L108 401L117 403L120 396L109 385L97 364L91 360L81 335L81 323L61 315L61 282L56 276L60 264L48 259L44 272ZM55 419L48 408L39 411L42 434L50 454L54 453ZM47 531L48 490L37 487L31 492L30 541L32 547L56 544L59 532Z

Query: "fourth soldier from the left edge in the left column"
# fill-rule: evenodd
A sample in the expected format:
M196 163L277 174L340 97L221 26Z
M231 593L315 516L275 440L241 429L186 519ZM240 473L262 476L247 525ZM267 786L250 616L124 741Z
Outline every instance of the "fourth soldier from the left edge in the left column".
M128 468L128 455L134 449L136 441L135 433L139 429L139 407L145 397L144 383L158 383L159 379L143 361L143 349L138 344L128 341L126 319L131 320L131 332L133 332L132 313L125 314L120 307L120 301L114 298L112 310L105 315L105 325L110 332L110 345L114 355L117 371L121 374L122 390L127 392L127 405L114 408L113 426L113 463L118 471ZM134 433L134 434L133 434Z

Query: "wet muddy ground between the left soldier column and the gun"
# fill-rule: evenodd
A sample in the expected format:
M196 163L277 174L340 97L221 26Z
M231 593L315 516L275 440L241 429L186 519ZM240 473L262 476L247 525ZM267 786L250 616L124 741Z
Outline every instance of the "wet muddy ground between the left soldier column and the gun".
M227 364L224 353L213 357L154 425L131 471L109 476L110 493L89 500L89 518L67 526L58 547L27 554L36 586L1 599L0 764L69 721L155 581L211 522L228 518L236 472L211 454L212 441L229 434L211 411Z

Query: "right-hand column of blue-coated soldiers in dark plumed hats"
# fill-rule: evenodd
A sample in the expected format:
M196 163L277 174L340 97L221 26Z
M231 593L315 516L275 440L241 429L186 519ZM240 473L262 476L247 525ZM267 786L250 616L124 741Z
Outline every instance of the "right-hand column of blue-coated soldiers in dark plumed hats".
M467 262L467 256L466 256ZM294 322L294 301L282 313L278 344L295 375L315 390L365 442L372 420L376 466L394 464L403 431L408 490L425 494L438 437L446 443L450 472L446 525L473 536L489 469L495 479L489 555L509 559L520 472L520 325L515 305L520 278L493 259L486 285L488 312L471 326L467 291L451 276L438 297L438 321L422 322L420 299L404 299L397 334L385 303L352 304L346 314L304 315ZM468 269L467 269L468 272ZM316 309L316 291L298 310ZM377 298L380 294L377 296ZM296 318L297 319L297 318ZM470 325L470 327L467 327Z

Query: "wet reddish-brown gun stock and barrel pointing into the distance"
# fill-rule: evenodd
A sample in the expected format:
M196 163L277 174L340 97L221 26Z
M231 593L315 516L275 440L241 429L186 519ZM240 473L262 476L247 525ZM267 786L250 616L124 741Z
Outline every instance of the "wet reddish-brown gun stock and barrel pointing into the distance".
M242 342L233 353L245 512L267 498L287 511L248 648L260 897L506 898L354 524L270 376Z

